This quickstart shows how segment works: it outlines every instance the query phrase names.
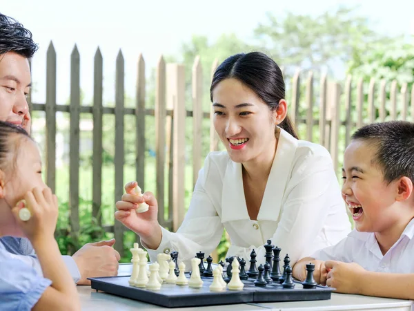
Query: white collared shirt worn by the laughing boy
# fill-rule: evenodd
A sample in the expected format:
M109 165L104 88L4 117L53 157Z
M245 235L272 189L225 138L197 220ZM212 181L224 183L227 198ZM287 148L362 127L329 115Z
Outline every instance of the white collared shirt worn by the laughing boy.
M414 273L414 219L397 242L383 256L373 232L354 229L337 245L320 249L313 258L357 263L365 270L388 273Z

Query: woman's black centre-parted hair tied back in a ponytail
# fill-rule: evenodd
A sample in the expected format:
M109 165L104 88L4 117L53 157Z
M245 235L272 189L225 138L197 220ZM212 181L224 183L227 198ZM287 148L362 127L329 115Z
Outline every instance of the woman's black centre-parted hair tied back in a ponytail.
M273 59L260 52L240 53L228 57L215 70L210 87L210 100L213 102L213 89L224 79L234 78L248 86L268 104L271 111L279 107L285 97L285 84L282 70ZM288 115L279 126L298 138Z

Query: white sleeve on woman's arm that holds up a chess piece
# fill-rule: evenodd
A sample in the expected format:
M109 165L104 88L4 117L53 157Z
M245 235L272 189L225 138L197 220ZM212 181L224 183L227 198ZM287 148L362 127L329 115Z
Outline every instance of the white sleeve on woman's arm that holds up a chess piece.
M157 254L164 252L178 252L180 261L186 264L186 270L190 270L190 259L197 252L204 252L208 256L219 244L223 234L223 225L213 205L212 200L205 191L204 185L208 182L209 160L204 163L204 168L199 171L190 207L183 223L176 233L169 232L161 227L162 239L157 249L147 249L150 261L157 261Z

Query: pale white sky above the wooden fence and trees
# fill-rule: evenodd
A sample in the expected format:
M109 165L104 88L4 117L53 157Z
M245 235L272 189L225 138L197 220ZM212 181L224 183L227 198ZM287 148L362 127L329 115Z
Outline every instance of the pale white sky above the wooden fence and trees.
M75 44L81 55L81 89L86 102L92 100L93 57L98 46L103 55L103 98L114 102L115 60L120 49L125 58L126 95L133 97L139 53L146 61L148 77L160 55L179 55L181 44L191 35L206 35L213 41L221 34L235 33L249 41L257 24L266 21L266 12L280 18L286 12L319 15L340 5L358 6L357 12L368 17L377 32L414 34L413 0L393 0L392 6L389 1L377 0L0 0L0 12L23 23L39 44L32 59L32 102L46 99L46 51L53 42L57 51L57 102L65 104L69 98L70 53Z

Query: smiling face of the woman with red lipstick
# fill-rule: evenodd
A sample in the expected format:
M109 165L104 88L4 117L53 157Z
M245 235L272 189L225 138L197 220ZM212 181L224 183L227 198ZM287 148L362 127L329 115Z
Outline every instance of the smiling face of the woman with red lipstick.
M258 160L275 152L275 113L237 79L224 79L213 89L214 127L235 162Z

